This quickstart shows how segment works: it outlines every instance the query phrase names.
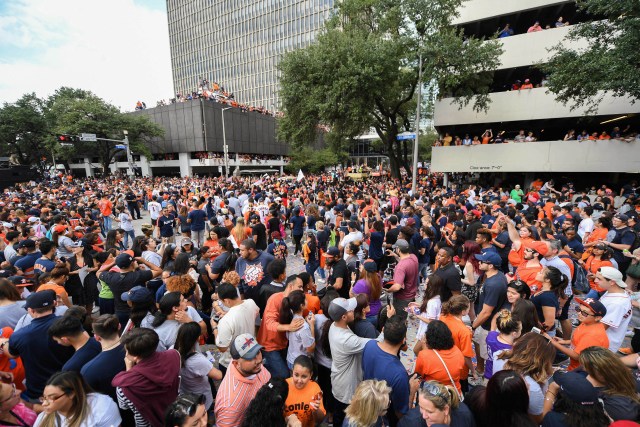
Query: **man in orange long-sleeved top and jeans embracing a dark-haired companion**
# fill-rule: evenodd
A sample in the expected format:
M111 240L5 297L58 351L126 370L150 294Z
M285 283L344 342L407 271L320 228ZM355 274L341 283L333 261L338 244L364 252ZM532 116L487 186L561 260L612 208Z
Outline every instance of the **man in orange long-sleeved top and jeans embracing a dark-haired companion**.
M294 319L290 324L283 325L280 320L280 306L284 297L288 297L293 291L302 291L302 280L288 281L284 291L273 294L267 300L267 305L262 316L262 323L258 330L258 343L264 347L265 366L272 376L289 378L287 366L287 332L295 332L302 328L305 320Z

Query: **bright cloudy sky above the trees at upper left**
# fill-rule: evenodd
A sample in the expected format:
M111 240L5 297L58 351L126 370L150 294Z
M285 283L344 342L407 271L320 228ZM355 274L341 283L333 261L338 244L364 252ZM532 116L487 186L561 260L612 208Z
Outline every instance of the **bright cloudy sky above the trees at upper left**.
M173 95L165 0L0 0L0 104L61 86L131 111Z

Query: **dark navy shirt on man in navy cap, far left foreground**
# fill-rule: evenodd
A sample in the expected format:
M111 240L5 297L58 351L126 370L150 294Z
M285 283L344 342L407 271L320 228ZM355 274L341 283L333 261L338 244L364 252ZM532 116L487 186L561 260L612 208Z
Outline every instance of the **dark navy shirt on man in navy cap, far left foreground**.
M64 347L49 338L49 327L58 318L54 314L33 319L9 338L9 351L20 356L27 377L27 394L32 399L42 396L51 375L73 355L73 347Z

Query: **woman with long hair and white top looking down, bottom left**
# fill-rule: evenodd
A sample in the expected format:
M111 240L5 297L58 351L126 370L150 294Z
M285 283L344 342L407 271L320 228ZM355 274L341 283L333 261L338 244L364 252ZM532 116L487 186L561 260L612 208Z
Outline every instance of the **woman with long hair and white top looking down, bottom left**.
M109 396L94 393L73 371L54 374L44 388L43 412L35 427L111 427L122 423L118 406Z

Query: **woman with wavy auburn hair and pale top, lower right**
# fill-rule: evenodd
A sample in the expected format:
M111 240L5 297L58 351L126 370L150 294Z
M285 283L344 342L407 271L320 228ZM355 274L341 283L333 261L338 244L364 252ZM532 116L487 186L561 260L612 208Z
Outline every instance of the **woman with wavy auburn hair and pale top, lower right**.
M553 359L556 351L549 341L540 334L529 332L505 350L493 364L493 373L511 369L519 373L527 383L529 391L529 417L542 423L544 395L548 379L553 374Z

